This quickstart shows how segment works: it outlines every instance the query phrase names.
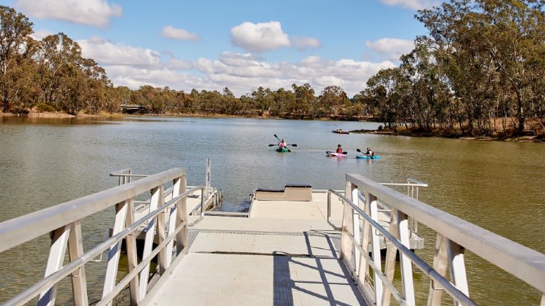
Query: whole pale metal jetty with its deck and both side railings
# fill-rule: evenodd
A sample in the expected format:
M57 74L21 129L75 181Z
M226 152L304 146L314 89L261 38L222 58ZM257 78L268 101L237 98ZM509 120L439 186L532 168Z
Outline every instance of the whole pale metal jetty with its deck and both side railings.
M545 305L544 254L415 199L421 182L407 181L402 193L348 173L341 192L257 189L248 218L225 218L205 208L221 193L207 183L188 187L185 175L183 168L130 182L121 175L117 187L1 222L0 252L51 237L44 278L4 305L54 305L63 283L71 284L74 305L89 305L88 293L96 291L96 305L416 305L422 290L428 305L442 305L446 295L457 305L475 305L465 250L530 284ZM195 192L198 201L191 200ZM139 197L149 197L143 213L136 210ZM110 237L84 251L81 222L111 208ZM416 222L436 234L432 262L411 251L411 241L419 241L412 236ZM104 281L95 288L86 269L103 253ZM414 286L414 273L430 286ZM120 293L126 300L116 300Z

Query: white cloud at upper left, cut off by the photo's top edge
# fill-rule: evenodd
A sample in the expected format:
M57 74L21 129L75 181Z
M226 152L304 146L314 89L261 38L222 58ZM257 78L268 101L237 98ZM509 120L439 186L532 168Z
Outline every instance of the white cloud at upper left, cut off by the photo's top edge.
M105 0L15 0L13 5L34 18L53 18L93 27L107 27L122 7Z

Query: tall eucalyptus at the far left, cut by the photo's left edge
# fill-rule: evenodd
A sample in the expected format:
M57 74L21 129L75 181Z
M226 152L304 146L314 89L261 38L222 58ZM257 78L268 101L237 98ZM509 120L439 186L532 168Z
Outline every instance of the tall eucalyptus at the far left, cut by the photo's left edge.
M32 30L32 22L22 13L17 13L13 8L0 6L0 94L2 95L2 109L10 110L11 93L13 85L17 81L10 79L9 72L15 68L14 75L27 79L27 75L15 65L29 65L26 60L32 56L32 41L29 35Z

